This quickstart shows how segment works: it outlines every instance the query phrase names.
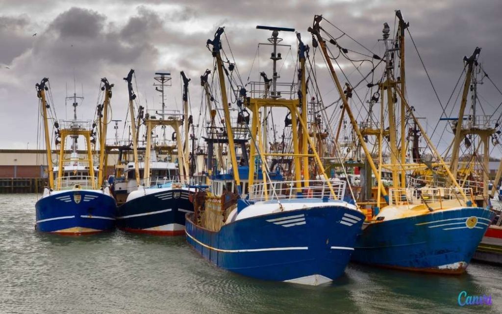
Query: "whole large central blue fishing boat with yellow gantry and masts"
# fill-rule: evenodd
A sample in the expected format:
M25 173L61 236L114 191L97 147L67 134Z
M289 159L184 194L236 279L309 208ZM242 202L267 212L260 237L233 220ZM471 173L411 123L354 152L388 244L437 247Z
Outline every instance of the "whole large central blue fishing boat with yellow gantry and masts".
M211 177L213 189L210 192L199 190L194 195L195 213L186 218L187 241L216 266L244 276L309 285L327 283L344 273L364 215L354 204L341 200L346 182L332 181L327 177L308 135L307 48L300 35L297 35L298 82L279 83L276 66L281 53L278 47L284 45L278 45L282 40L278 35L280 31L292 32L294 29L257 28L272 31L269 42L274 49L271 57L273 76L268 79L262 74L264 81L250 82L252 87L248 91L243 87L231 89L235 92L232 99L235 99L239 114L243 116L245 111L252 114L250 126L247 125L250 138L246 159L249 163L241 166L248 166L246 172L232 170L239 169L235 152L238 146L233 136L225 75L231 86L244 84L235 81L235 63L222 61L223 28L219 28L214 39L207 42L208 47L212 46L218 73L220 103L224 111L223 133L232 164L228 173L233 180L228 182ZM293 148L284 153L270 153L264 149L269 142L263 136L267 123L262 118L278 108L286 108L291 113ZM246 150L241 151L242 156L246 154ZM294 180L281 181L278 175L273 175L268 160L272 156L293 159ZM208 154L207 158L213 156ZM309 159L315 160L322 179L309 177ZM248 184L247 193L242 190L242 179ZM242 194L247 195L242 198Z

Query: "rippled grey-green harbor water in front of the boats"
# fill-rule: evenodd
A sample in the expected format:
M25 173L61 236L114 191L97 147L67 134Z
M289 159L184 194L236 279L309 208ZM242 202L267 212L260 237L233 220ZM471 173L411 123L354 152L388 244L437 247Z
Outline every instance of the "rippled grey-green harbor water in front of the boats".
M214 267L184 237L36 232L36 200L0 195L1 313L502 312L502 267L472 263L457 276L350 264L323 286L260 281ZM492 304L459 306L461 291Z

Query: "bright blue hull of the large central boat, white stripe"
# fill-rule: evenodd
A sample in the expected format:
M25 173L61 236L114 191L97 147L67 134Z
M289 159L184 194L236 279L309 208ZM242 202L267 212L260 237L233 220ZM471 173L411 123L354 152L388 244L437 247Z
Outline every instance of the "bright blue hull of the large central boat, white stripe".
M342 224L344 214L359 221ZM285 220L292 224L277 223ZM187 215L186 233L188 243L221 268L258 279L317 284L317 278L322 283L343 274L363 221L363 214L333 205L242 219L219 232L195 225Z

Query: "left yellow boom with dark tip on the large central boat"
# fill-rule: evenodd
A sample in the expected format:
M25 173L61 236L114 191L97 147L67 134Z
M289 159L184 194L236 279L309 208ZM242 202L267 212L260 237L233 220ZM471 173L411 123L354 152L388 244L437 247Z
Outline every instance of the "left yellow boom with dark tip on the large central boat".
M239 172L238 172L238 167L237 167L237 157L235 156L235 145L233 142L233 132L232 132L232 125L230 121L230 111L228 109L228 100L226 97L226 87L225 87L225 77L223 76L223 61L221 61L221 55L220 55L220 50L221 50L221 39L220 36L223 34L223 28L220 27L214 34L214 39L211 41L210 39L207 40L207 46L209 45L213 46L212 49L212 54L213 57L216 58L216 66L218 69L218 78L219 78L219 84L220 84L220 92L221 92L221 102L223 104L223 111L225 114L225 126L226 126L226 133L228 137L228 151L230 153L230 159L232 161L232 168L233 168L233 177L235 179L235 183L237 186L237 189L240 189L240 178L239 178ZM240 191L239 191L240 194Z

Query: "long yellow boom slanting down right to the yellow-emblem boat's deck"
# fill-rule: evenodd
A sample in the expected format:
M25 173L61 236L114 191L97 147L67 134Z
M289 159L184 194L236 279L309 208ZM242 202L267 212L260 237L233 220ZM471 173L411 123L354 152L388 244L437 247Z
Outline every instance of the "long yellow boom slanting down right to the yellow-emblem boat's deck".
M316 15L314 17L314 27L313 28L309 27L308 31L310 33L312 33L313 36L317 37L317 42L321 46L321 50L323 52L324 59L329 67L329 70L331 72L331 76L335 82L338 93L340 94L340 97L342 99L343 107L345 108L345 112L347 112L347 115L350 119L350 124L352 125L352 128L354 129L354 131L357 135L357 138L359 139L359 143L361 144L362 150L364 151L364 154L366 155L366 159L369 163L369 166L371 167L371 170L375 174L376 180L380 181L381 178L379 175L379 171L378 171L378 169L376 169L376 166L373 162L373 159L371 158L369 150L368 150L366 143L364 142L364 139L362 137L361 131L359 130L359 127L357 126L357 122L355 121L354 115L352 114L352 110L350 109L350 107L348 105L347 98L345 97L345 94L343 93L343 89L340 85L340 81L338 80L338 76L336 75L335 69L334 69L333 64L331 63L331 59L329 57L329 54L328 54L328 51L326 48L326 42L321 37L320 25L319 25L319 23L321 21L322 21L322 16ZM381 186L381 192L384 195L384 197L387 196L387 191L385 190L384 186Z

